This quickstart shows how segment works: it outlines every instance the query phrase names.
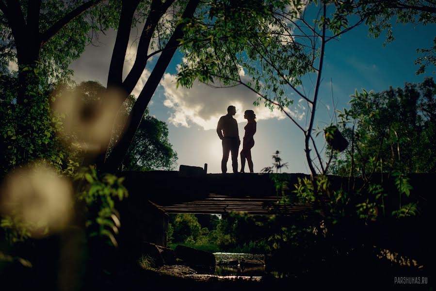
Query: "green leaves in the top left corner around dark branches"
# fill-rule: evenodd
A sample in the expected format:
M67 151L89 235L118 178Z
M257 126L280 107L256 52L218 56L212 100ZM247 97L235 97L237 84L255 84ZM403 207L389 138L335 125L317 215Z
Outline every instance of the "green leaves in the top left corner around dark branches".
M35 43L43 41L43 33L48 32L57 21L63 19L68 12L73 11L83 4L83 1L41 1L41 8L37 15L37 25L40 33L40 37L29 37L28 34L32 34L34 27L24 26L20 29L10 27L11 17L18 18L20 16L26 19L28 10L30 8L30 1L20 3L19 9L22 15L11 15L11 12L0 12L0 40L1 40L1 57L0 72L5 72L9 65L9 62L17 62L17 50L22 51L22 54L27 53L26 49L32 49L33 47L39 47L39 56L33 61L39 62L39 70L44 75L49 76L52 82L65 81L71 76L72 71L68 69L71 61L77 59L83 50L87 42L90 42L95 36L94 33L100 29L105 29L108 26L102 21L105 19L104 13L114 12L113 4L111 5L97 5L92 9L86 11L79 16L74 17L71 21L68 21L64 27L57 31L53 35L49 35L48 40L45 40L43 44ZM31 25L31 24L29 24ZM93 31L92 34L88 34L89 31ZM27 43L23 40L15 39L20 38L23 35L27 35L29 39ZM74 37L71 37L71 36ZM28 48L25 48L28 46ZM19 64L21 65L33 65L33 64ZM20 67L20 69L22 69Z

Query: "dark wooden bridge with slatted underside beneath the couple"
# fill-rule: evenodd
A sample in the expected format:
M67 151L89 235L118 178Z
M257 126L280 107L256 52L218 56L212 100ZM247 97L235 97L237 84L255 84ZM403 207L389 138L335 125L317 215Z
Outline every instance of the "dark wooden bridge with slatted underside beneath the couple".
M269 174L205 174L178 171L124 172L129 195L149 200L166 213L309 214L313 204L277 192ZM281 174L289 186L305 174ZM283 194L291 197L284 203ZM136 199L135 199L136 200ZM139 201L138 201L139 202ZM141 203L141 202L139 202Z

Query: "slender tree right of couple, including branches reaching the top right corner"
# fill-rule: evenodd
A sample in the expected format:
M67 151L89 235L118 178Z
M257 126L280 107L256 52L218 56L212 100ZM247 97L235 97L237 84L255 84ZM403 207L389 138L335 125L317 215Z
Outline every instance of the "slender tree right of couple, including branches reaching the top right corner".
M381 4L371 0L297 1L284 7L275 6L265 16L270 25L257 26L263 31L253 32L249 37L242 36L238 39L239 45L232 46L232 43L220 39L207 43L207 46L192 44L188 49L190 53L186 54L187 62L178 72L178 82L188 87L195 79L212 86L219 82L216 87L242 85L257 93L256 105L264 100L265 106L281 110L303 132L310 173L323 174L328 171L333 155L323 157L313 133L328 43L362 23L369 25L370 33L375 37L387 29L388 41L392 41L391 17L397 16L403 23L418 17L425 25L435 22L435 9L433 1L414 0L383 1ZM228 15L242 19L242 27L251 23L250 20L244 22L243 13L242 16L239 12ZM235 30L239 33L238 28ZM432 53L431 49L423 52ZM240 74L241 70L244 74ZM307 85L311 87L311 94L304 90L304 86L299 88L303 76L315 80L312 85ZM291 94L307 103L306 124L289 110L288 106L293 102Z

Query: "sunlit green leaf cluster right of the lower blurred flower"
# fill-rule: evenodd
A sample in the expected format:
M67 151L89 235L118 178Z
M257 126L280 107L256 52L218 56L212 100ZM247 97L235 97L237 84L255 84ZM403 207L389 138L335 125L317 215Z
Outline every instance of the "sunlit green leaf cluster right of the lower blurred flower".
M122 185L124 178L111 174L97 176L95 167L82 168L74 178L79 183L78 202L85 205L85 226L90 237L104 236L117 245L114 234L118 234L120 219L115 202L128 196Z

